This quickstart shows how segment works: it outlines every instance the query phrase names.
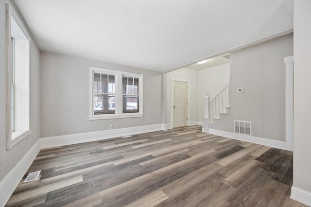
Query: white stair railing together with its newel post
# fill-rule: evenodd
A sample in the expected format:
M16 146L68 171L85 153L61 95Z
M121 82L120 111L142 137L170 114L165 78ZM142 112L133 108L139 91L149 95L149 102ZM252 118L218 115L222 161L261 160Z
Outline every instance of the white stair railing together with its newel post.
M229 113L229 83L225 84L211 99L208 97L208 93L204 99L204 127L202 131L208 133L209 125L217 123Z

